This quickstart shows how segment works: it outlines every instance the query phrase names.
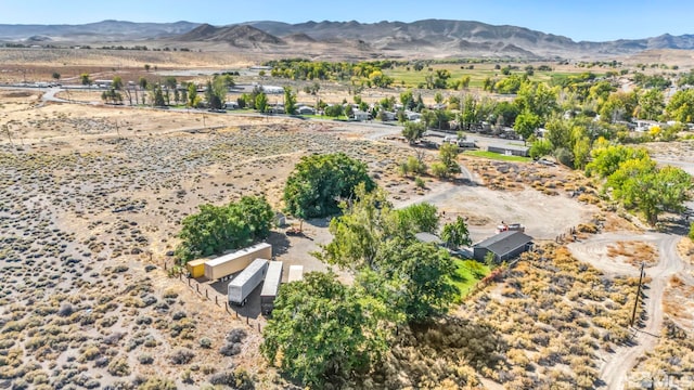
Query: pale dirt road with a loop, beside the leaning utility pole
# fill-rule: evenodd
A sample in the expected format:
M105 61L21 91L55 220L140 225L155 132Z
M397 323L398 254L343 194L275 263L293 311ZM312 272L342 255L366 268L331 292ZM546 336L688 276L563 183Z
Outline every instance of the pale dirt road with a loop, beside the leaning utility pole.
M645 290L646 320L644 327L634 329L634 344L616 348L615 352L601 368L600 378L607 389L624 389L627 374L635 366L637 360L646 351L651 351L657 343L657 337L663 327L663 295L670 276L677 274L690 285L694 281L677 251L677 243L681 237L674 234L648 232L605 233L595 235L587 240L568 245L574 256L584 262L612 275L638 276L639 270L630 264L616 262L607 257L607 246L619 240L650 242L657 246L659 262L646 269L646 276L652 278Z

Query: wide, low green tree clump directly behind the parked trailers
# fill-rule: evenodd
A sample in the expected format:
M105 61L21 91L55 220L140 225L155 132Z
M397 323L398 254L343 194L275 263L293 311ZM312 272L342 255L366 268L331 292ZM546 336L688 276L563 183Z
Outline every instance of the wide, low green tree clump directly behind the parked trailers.
M270 233L274 212L264 197L244 196L226 206L202 205L183 219L176 250L181 262L244 247Z

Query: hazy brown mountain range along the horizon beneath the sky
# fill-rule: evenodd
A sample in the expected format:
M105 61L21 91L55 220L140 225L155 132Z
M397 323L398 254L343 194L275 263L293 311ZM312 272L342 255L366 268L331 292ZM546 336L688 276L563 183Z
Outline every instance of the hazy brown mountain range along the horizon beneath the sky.
M300 54L311 48L352 48L365 56L579 57L633 54L653 49L694 50L694 35L668 34L644 39L576 42L570 38L517 26L480 22L424 20L380 22L247 22L211 26L190 22L132 23L103 21L85 25L0 25L0 41L189 46L216 44L250 51Z

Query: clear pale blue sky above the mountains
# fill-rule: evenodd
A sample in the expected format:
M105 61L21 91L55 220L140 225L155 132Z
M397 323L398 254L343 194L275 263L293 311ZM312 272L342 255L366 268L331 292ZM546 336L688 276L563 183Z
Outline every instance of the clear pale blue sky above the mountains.
M0 0L0 24L449 18L528 27L577 41L694 34L693 16L691 0Z

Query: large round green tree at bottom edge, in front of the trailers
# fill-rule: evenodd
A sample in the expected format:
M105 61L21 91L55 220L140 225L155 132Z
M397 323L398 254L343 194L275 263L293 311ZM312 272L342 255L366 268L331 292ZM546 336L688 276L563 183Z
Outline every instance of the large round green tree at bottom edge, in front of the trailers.
M386 351L384 313L382 302L335 274L311 272L280 288L260 350L303 385L340 387Z

